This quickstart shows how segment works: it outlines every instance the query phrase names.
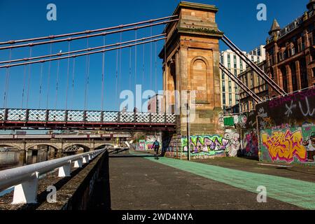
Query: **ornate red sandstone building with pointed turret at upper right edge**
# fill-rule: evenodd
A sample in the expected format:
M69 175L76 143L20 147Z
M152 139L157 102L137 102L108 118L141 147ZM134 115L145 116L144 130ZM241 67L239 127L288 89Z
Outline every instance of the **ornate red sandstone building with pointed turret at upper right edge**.
M308 11L281 29L274 20L267 45L267 73L286 92L295 92L315 85L315 0ZM269 97L276 97L269 88Z

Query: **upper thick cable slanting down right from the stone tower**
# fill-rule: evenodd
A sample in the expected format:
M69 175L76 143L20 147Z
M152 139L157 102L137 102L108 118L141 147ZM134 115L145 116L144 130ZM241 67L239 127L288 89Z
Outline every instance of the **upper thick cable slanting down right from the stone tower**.
M237 48L237 46L232 43L232 41L230 41L229 38L227 38L225 35L223 35L222 41L228 45L228 47L235 52L235 54L237 54L241 59L244 60L244 62L251 67L251 69L253 69L253 71L255 71L255 73L258 74L258 76L260 76L263 80L265 80L265 82L272 87L273 90L275 90L279 95L283 95L286 94L286 92L284 90L281 89L281 87L279 87L278 84L276 84L274 82L274 80L272 80L272 78L270 78L264 71L262 71L257 64L255 64L254 62L251 61L251 59L248 59L248 57L246 57L246 55L244 55L243 52L241 52L241 50L239 50L239 48Z

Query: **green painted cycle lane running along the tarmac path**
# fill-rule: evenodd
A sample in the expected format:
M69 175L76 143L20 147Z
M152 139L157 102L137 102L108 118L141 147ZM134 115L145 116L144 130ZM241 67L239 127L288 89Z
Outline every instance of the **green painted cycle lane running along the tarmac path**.
M267 188L267 197L294 204L304 209L315 209L315 183L267 174L255 174L172 158L160 158L160 160L155 160L154 158L146 159L252 193L258 193L256 191L258 186L265 186Z

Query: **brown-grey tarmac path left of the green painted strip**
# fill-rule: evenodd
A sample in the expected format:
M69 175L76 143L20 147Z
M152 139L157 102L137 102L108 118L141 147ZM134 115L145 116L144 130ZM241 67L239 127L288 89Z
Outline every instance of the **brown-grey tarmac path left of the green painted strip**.
M267 203L258 203L256 193L140 155L112 155L109 176L113 210L298 209L269 197Z

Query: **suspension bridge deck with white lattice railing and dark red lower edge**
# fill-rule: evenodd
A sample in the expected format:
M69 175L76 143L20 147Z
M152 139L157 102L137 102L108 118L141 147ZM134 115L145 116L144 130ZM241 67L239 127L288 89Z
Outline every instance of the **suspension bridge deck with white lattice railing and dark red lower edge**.
M172 113L0 109L0 129L174 130Z

